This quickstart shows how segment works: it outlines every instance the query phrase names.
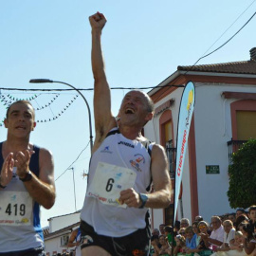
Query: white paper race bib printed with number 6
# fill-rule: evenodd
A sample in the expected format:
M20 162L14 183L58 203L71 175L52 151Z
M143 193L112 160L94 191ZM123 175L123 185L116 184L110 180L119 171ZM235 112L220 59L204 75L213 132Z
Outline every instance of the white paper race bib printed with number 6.
M97 198L102 204L126 208L119 204L120 192L133 188L136 176L128 168L99 162L87 196Z

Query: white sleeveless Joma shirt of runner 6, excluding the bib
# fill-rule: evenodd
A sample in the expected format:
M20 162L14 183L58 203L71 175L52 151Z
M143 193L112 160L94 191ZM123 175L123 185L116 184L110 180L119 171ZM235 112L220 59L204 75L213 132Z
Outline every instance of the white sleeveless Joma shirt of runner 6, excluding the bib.
M148 141L149 142L149 141ZM153 143L149 145L152 148ZM81 219L91 225L98 234L120 237L146 227L148 209L121 208L103 204L101 200L88 196L99 162L114 165L134 172L133 189L147 193L151 188L151 156L149 150L136 139L123 137L116 127L102 141L92 155L87 184L87 193L81 211ZM107 187L106 187L107 188Z

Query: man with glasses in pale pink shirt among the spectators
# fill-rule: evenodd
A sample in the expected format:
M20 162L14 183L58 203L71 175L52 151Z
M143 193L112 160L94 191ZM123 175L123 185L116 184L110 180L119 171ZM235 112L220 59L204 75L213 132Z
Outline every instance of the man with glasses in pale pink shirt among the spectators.
M205 233L201 233L201 237L204 240L205 246L214 250L216 247L220 247L223 244L224 229L221 223L221 219L218 216L211 217L212 231L210 236Z

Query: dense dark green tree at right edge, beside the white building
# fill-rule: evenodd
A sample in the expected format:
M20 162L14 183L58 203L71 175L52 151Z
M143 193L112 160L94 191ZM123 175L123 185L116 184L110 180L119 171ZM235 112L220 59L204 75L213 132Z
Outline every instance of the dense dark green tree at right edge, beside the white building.
M256 204L256 139L251 138L232 155L229 165L230 207L245 208Z

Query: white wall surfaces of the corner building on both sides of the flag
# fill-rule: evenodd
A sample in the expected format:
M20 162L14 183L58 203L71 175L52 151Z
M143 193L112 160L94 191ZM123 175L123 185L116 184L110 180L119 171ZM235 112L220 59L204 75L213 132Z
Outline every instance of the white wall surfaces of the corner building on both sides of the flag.
M155 104L155 107L165 101L174 98L171 106L174 139L176 138L179 103L183 89L178 88ZM230 103L234 99L225 100L221 97L224 91L256 93L256 86L236 85L224 83L195 83L195 107L194 107L194 130L195 130L195 153L197 167L197 187L199 214L205 220L210 221L214 214L224 214L234 210L229 208L227 192L229 190L229 150L227 142L231 139ZM145 127L145 136L159 143L159 118L149 122ZM153 125L154 124L154 125ZM154 128L153 128L154 127ZM156 137L155 137L156 134ZM175 145L176 146L176 145ZM220 174L206 174L206 165L219 165ZM183 211L184 217L191 219L191 187L189 172L189 153L186 154L183 183ZM181 218L178 207L178 218ZM154 213L156 210L154 210ZM157 210L158 212L158 210ZM159 223L154 215L154 222Z

